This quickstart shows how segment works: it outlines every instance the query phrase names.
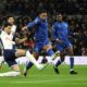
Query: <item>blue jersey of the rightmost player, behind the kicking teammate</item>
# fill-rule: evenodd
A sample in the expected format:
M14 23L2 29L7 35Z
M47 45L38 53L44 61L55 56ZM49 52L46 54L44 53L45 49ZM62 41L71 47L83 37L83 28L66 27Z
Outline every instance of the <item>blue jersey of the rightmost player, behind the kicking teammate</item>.
M69 39L69 25L65 22L55 22L53 24L53 36L54 39L61 39L66 41Z

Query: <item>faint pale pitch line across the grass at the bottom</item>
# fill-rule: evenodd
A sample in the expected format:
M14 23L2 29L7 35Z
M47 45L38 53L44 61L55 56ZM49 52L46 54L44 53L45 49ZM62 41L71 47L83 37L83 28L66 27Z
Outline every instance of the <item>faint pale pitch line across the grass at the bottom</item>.
M82 80L82 79L73 79L73 80ZM30 80L30 82L12 82L10 84L70 84L70 85L87 85L87 83L73 83L70 79L63 80Z

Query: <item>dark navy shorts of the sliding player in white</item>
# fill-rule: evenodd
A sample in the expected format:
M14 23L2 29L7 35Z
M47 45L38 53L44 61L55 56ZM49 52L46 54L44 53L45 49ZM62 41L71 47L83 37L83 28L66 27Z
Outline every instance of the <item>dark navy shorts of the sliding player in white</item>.
M8 63L9 66L12 66L14 64L17 64L15 59L15 50L3 50L3 57L4 57L4 60L5 62Z

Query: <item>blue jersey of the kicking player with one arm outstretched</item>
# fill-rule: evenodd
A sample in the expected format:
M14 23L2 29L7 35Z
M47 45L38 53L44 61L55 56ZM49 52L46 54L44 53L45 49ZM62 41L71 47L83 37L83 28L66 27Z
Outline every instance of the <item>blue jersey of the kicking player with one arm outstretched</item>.
M36 17L35 21L29 22L27 27L36 25L35 41L44 41L48 39L48 20L42 21L40 17Z

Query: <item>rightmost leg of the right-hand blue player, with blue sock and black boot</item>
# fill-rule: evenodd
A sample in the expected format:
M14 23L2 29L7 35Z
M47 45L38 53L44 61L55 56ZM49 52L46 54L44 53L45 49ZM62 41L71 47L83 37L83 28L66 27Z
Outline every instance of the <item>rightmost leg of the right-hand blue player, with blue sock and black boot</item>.
M77 72L74 71L73 47L70 45L66 50L67 50L69 54L71 55L70 57L70 74L77 74Z

